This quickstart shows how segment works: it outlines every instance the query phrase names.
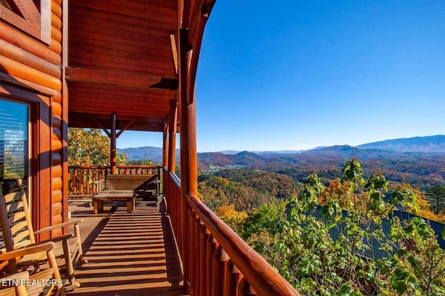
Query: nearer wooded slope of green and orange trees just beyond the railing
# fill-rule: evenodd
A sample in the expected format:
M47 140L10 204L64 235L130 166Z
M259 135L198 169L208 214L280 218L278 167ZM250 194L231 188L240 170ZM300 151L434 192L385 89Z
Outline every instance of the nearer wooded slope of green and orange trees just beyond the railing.
M301 184L285 174L220 170L200 176L200 198L303 295L443 295L440 233L394 210L438 220L444 211L435 215L419 190L391 186L381 170L365 179L363 167L350 158L327 184L316 174ZM444 190L431 193L443 199Z

